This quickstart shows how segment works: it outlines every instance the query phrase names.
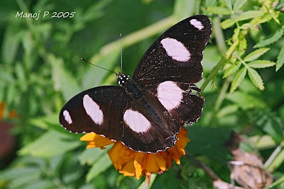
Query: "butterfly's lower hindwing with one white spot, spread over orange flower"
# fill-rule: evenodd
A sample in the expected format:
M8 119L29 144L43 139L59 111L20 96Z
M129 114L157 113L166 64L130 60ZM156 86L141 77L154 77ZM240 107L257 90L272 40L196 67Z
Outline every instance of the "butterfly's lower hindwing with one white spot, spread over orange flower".
M127 147L155 153L173 147L180 123L168 115L155 96L141 91L141 98L129 99L124 110L124 137Z

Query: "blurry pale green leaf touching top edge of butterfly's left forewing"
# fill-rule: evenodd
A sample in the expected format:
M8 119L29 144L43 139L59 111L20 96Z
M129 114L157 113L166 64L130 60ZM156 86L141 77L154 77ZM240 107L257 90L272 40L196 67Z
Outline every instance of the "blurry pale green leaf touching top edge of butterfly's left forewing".
M53 69L53 81L55 90L62 91L65 101L82 91L74 76L64 68L62 59L56 58L54 55L48 55L48 62L50 62Z

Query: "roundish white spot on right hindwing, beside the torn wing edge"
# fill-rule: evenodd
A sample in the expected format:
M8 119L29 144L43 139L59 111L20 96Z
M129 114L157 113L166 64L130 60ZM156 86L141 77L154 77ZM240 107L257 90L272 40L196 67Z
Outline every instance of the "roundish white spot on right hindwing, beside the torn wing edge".
M158 100L168 111L177 108L182 102L182 89L173 81L160 83L157 88Z

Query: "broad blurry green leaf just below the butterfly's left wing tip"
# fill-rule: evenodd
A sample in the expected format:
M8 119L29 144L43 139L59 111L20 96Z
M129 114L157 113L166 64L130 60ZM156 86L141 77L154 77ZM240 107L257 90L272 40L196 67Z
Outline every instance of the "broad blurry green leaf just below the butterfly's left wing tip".
M70 138L67 134L50 130L34 142L20 149L18 154L51 157L57 154L64 154L66 151L79 147L80 144L82 143L79 140Z

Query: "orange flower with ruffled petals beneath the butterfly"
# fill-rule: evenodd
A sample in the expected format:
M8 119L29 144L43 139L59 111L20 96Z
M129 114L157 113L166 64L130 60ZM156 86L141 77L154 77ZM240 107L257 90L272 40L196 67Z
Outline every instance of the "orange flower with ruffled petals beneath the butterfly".
M123 173L124 176L149 176L151 173L162 174L168 171L175 160L180 164L180 157L185 155L185 146L190 139L187 138L187 130L182 127L177 135L178 141L175 146L165 151L158 151L156 154L133 151L124 146L121 142L114 142L114 146L108 151L109 158L116 170ZM113 141L102 137L99 134L88 133L81 137L82 141L87 142L87 148L100 147L104 148Z

